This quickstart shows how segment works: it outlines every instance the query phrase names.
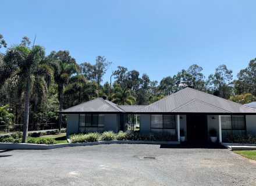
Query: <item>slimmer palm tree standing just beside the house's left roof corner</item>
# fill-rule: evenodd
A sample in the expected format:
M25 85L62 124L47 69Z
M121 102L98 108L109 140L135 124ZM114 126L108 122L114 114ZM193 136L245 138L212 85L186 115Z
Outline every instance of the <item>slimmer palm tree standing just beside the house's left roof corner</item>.
M58 85L59 110L63 109L64 87L69 83L70 77L79 72L76 60L69 55L69 51L52 51L48 56L49 61L54 61L54 80ZM59 113L59 130L61 130L62 114Z

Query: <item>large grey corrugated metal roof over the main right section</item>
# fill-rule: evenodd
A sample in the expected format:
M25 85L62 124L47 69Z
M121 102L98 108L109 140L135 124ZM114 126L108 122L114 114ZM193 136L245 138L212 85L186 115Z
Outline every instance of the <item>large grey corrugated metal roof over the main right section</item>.
M169 95L166 98L137 110L137 112L256 113L256 109L194 90L193 88L184 88L175 94Z

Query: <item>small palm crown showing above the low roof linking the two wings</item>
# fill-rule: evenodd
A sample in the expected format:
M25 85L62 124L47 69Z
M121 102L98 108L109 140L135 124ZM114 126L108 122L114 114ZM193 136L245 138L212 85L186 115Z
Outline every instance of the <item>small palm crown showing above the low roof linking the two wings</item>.
M133 90L122 88L118 83L115 83L113 87L114 93L112 95L112 102L122 105L134 105L136 98L134 97Z

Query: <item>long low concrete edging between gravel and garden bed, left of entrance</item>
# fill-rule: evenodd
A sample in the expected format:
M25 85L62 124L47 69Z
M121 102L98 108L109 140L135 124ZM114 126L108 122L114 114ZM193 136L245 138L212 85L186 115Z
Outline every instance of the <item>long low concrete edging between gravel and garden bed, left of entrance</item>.
M151 145L179 145L178 141L97 141L97 142L84 142L84 143L69 143L69 144L18 144L18 143L3 143L0 142L0 149L56 149L67 146L88 146L88 145L103 145L103 144L151 144Z

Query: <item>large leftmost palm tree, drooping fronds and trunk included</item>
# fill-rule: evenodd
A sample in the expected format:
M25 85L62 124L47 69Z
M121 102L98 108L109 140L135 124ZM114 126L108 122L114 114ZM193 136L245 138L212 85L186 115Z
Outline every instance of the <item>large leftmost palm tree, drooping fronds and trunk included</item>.
M0 66L0 85L6 81L24 92L24 120L22 142L27 141L29 127L30 94L35 79L41 78L45 84L51 83L53 70L45 60L45 49L39 45L32 48L14 46L6 51Z

